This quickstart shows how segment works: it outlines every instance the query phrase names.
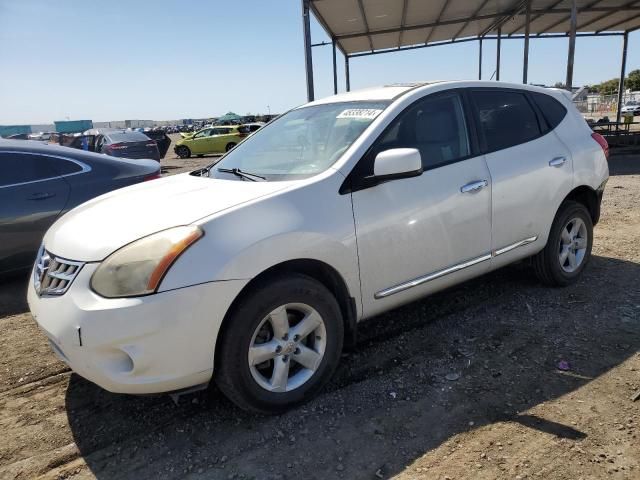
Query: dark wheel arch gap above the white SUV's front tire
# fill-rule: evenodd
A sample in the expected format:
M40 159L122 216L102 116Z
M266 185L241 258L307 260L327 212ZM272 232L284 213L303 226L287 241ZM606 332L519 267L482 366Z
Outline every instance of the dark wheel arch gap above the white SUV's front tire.
M311 258L300 258L295 260L287 260L276 265L273 265L260 274L256 275L249 283L247 283L236 298L231 302L231 306L227 309L227 312L222 320L220 326L220 332L216 339L215 359L214 365L219 362L218 355L220 349L218 343L224 336L226 327L228 326L229 317L233 314L233 311L237 306L251 294L253 290L269 282L271 279L285 275L285 274L297 273L306 275L317 282L324 285L336 298L338 305L340 306L340 312L342 313L342 320L344 322L345 332L345 347L353 347L356 342L356 323L357 323L357 308L356 300L351 293L347 283L342 275L328 263Z

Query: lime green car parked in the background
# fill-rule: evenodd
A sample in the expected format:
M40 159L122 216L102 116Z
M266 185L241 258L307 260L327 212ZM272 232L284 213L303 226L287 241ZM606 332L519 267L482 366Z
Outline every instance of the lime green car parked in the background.
M248 136L248 129L242 125L207 127L178 140L173 150L180 158L224 153Z

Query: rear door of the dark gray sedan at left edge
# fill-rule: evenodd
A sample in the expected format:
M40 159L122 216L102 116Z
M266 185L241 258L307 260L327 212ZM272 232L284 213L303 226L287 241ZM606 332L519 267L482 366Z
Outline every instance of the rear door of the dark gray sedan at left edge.
M0 272L33 263L42 237L69 198L53 157L0 152Z

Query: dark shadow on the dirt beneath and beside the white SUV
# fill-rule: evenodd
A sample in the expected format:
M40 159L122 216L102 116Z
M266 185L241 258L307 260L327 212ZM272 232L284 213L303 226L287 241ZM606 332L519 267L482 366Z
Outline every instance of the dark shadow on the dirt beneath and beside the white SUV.
M529 273L508 267L368 321L324 392L279 417L246 414L215 391L176 406L74 375L66 410L75 443L100 479L370 479L493 422L584 438L579 424L527 410L640 350L640 293L628 288L640 265L594 257L564 289Z

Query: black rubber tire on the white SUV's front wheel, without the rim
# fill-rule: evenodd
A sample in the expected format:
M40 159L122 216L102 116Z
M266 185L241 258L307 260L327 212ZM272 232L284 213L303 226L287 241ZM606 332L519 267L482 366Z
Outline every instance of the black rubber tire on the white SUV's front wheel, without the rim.
M291 303L306 304L322 317L326 332L324 356L315 372L300 386L291 391L273 392L254 378L249 366L249 348L254 333L269 313ZM225 326L216 347L214 378L227 398L244 410L276 414L311 399L331 378L340 360L344 324L338 303L324 285L305 275L289 274L258 285L233 308L225 318ZM275 365L282 360L276 357L270 361Z

